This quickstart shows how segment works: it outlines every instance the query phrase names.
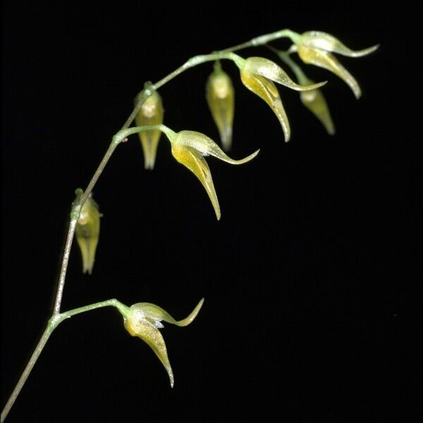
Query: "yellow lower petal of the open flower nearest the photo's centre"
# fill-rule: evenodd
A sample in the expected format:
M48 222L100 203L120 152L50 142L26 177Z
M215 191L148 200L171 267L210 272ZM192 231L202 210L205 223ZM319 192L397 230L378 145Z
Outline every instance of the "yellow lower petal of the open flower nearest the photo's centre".
M210 172L207 161L204 157L202 157L197 149L193 147L176 142L173 142L171 145L173 157L175 157L180 164L188 167L202 183L204 189L207 191L207 195L209 195L210 201L212 202L216 218L219 220L221 218L219 201L217 200L216 190L214 190L212 180L212 173Z

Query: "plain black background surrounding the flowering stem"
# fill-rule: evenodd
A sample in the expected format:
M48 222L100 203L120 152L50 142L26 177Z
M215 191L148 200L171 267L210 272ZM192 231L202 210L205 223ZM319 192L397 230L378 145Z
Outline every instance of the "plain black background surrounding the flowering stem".
M73 192L85 188L145 80L284 27L330 32L354 49L381 44L371 56L341 58L362 86L359 101L336 76L304 67L329 80L333 137L298 93L280 88L289 143L224 63L236 90L230 155L261 150L243 166L207 159L219 222L164 137L154 171L144 170L136 136L118 147L94 188L104 214L94 272L81 274L74 246L63 309L118 298L154 302L180 319L204 297L190 326L161 330L175 387L120 314L99 309L51 336L9 422L419 421L412 125L421 78L412 34L396 32L402 23L386 6L6 2L3 404L49 318ZM240 54L276 60L266 49ZM218 140L204 99L211 70L199 66L160 90L166 125Z

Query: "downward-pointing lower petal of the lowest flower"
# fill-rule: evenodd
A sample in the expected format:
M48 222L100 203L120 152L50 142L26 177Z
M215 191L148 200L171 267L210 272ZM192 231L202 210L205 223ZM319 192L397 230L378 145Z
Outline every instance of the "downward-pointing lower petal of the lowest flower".
M133 309L133 306L130 307L130 312L124 322L125 329L130 333L131 336L137 336L138 338L142 339L142 341L147 343L150 348L152 348L157 357L159 357L161 364L164 365L166 372L168 372L171 386L173 388L173 372L171 363L168 359L166 344L164 343L163 336L161 336L159 329L154 327L154 325L148 321L145 321L145 319L143 319L143 317L141 315L139 316L138 314L139 312L137 309Z

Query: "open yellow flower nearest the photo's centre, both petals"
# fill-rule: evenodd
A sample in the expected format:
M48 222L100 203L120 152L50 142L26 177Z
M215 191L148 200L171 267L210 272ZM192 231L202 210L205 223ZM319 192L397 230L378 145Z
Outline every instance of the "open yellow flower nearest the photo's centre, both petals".
M214 190L212 173L204 156L213 156L230 164L243 164L256 157L259 150L245 157L245 159L233 160L222 151L216 142L202 133L182 130L180 133L173 134L173 137L169 137L173 157L180 164L188 167L200 179L213 204L217 220L219 220L221 218L219 201L217 200L216 190Z

